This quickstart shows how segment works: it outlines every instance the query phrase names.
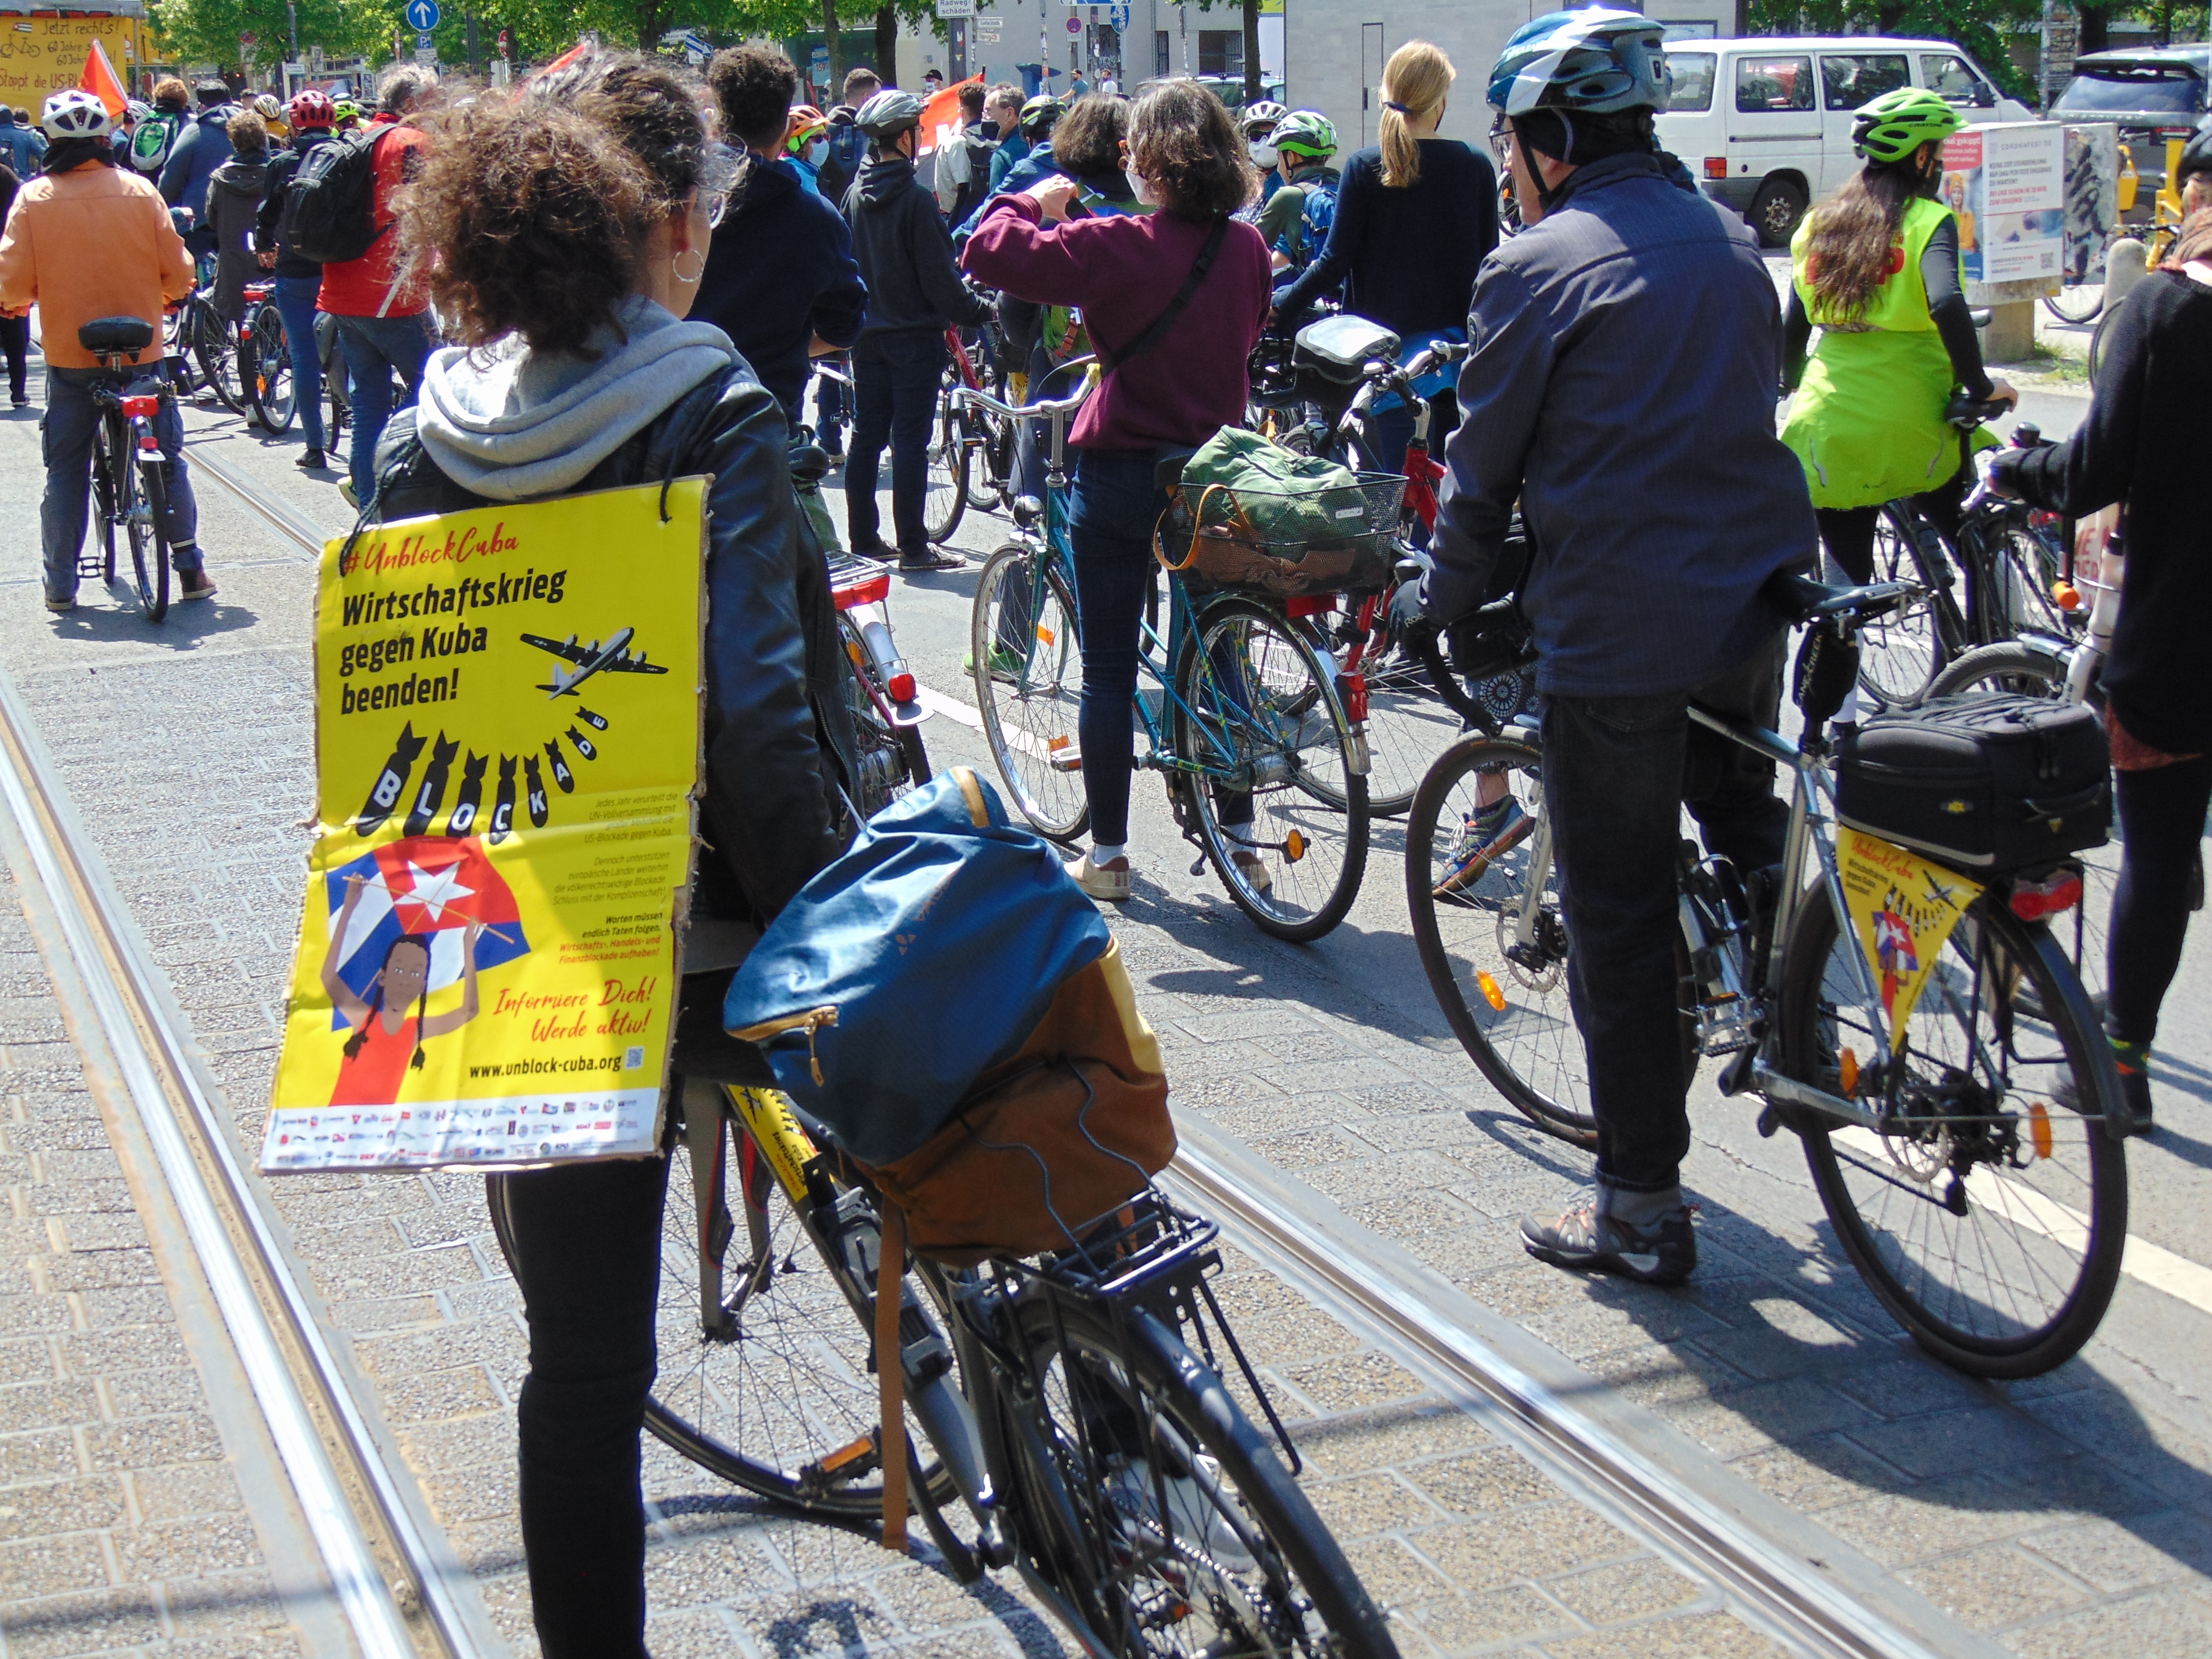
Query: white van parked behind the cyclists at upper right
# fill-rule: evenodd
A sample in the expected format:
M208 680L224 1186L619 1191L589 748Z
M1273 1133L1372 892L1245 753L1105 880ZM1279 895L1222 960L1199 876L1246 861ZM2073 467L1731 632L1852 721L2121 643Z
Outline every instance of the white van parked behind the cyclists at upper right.
M1666 60L1674 100L1659 115L1659 142L1705 195L1750 219L1767 248L1787 248L1805 208L1863 166L1851 155L1851 115L1882 93L1929 86L1969 122L2035 119L1949 40L1674 40Z

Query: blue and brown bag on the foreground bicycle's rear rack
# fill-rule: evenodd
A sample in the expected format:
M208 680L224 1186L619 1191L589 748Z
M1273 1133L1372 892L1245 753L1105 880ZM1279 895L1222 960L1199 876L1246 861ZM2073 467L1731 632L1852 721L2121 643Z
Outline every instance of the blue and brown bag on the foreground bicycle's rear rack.
M1175 1157L1113 933L969 768L887 805L799 889L723 1026L942 1261L1066 1250Z

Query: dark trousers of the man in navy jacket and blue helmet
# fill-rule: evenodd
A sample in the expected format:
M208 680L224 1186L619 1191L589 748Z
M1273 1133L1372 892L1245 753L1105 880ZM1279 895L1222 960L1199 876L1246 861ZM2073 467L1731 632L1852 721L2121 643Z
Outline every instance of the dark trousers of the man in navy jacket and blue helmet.
M1690 1150L1674 938L1681 807L1708 852L1750 874L1778 865L1790 807L1774 763L1710 734L1690 739L1690 701L1772 726L1783 648L1772 644L1705 686L1659 697L1548 697L1544 810L1559 858L1568 995L1590 1062L1597 1179L1666 1192Z

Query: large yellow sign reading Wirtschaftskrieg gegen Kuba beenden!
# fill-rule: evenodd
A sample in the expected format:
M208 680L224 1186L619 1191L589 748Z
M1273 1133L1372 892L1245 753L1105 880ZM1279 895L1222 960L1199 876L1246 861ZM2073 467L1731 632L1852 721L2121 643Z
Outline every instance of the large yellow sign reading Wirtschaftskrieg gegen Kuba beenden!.
M706 480L323 549L316 838L268 1172L659 1144Z

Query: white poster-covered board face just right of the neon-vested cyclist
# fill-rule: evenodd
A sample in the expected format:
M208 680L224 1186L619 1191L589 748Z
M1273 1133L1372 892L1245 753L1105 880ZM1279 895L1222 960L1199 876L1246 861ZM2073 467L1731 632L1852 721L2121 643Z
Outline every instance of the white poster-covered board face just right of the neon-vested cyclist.
M2000 122L1953 133L1942 199L1958 215L1969 305L2059 290L2066 259L2066 128Z

